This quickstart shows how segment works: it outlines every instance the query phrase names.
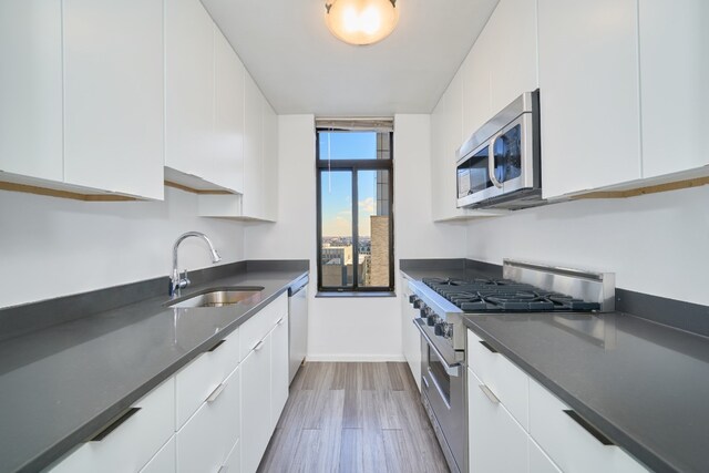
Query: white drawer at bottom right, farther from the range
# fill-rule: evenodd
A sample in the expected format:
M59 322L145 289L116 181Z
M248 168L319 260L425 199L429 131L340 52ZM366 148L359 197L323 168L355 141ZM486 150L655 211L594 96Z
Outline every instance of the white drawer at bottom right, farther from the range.
M616 445L606 445L571 415L554 394L530 379L530 433L562 471L645 472Z

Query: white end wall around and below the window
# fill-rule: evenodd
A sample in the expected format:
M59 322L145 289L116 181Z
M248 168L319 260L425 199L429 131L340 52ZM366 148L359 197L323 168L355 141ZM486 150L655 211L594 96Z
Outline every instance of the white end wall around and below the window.
M398 298L316 298L316 169L312 115L279 116L278 223L248 224L246 258L310 260L309 360L403 360ZM394 253L461 257L464 225L431 223L430 117L394 119ZM397 276L398 281L398 276Z

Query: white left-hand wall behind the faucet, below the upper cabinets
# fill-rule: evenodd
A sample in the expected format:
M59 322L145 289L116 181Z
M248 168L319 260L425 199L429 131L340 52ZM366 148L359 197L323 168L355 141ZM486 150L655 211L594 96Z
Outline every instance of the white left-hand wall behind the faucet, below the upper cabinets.
M169 187L165 202L113 203L0 191L0 307L167 276L188 230L213 239L219 264L244 259L242 223L196 215L196 196ZM185 240L181 267L210 266L204 246Z

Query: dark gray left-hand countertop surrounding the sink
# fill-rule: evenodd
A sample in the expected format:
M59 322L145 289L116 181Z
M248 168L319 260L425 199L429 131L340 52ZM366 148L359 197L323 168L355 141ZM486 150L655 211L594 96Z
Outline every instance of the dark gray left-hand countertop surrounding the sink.
M183 290L263 286L260 302L173 309L161 296L0 341L0 472L49 465L305 274L249 270Z

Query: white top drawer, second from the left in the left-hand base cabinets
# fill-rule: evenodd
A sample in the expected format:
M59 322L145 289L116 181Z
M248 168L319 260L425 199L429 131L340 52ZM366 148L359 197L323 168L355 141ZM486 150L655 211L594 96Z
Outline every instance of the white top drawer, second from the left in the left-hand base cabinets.
M239 329L195 358L175 376L177 430L238 364Z

